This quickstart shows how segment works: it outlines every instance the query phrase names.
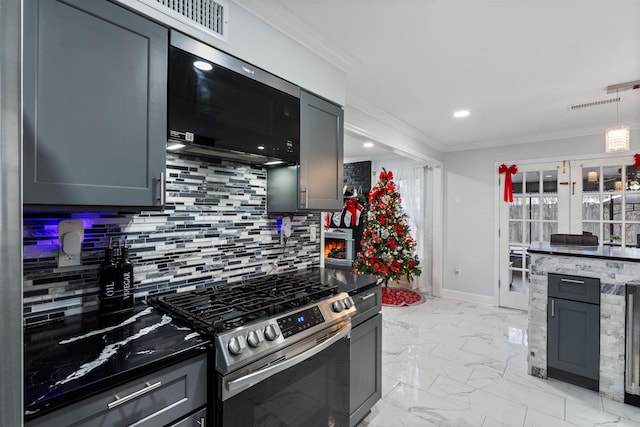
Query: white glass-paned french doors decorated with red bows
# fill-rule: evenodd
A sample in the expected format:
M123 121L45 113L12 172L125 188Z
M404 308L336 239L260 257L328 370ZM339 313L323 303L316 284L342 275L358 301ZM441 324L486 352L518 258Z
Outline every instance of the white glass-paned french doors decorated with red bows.
M500 179L500 305L527 310L532 242L591 233L600 245L640 245L640 169L629 157L518 165L513 202Z

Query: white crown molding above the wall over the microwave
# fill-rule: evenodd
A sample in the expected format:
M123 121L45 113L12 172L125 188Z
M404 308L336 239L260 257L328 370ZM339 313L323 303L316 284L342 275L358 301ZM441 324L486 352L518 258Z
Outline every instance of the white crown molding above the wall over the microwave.
M297 16L275 2L230 1L344 72L362 65L360 60L329 43L321 34L311 30Z

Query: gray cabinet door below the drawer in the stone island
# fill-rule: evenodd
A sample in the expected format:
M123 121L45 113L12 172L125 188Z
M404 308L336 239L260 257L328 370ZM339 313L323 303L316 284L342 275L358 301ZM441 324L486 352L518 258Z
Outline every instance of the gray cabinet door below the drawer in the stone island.
M600 372L600 306L549 298L547 365L598 380Z

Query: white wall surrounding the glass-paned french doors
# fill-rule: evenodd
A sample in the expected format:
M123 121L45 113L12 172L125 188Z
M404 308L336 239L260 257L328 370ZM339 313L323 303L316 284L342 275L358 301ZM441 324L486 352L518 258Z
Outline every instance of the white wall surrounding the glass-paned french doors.
M632 130L631 141L640 138ZM633 147L629 164L633 164ZM491 303L497 292L496 162L607 157L604 135L450 152L444 158L443 295ZM454 270L460 269L460 277Z

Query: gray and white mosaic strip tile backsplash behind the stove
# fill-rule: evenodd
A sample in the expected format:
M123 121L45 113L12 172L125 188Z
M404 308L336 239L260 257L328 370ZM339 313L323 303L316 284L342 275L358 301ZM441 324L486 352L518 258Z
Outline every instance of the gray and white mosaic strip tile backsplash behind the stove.
M280 218L266 213L266 182L260 166L169 154L163 211L25 211L25 325L97 310L109 241L126 239L137 299L317 266L320 241L311 241L310 227L318 230L319 214L292 215L293 232L283 244ZM84 223L79 267L58 268L64 219Z

